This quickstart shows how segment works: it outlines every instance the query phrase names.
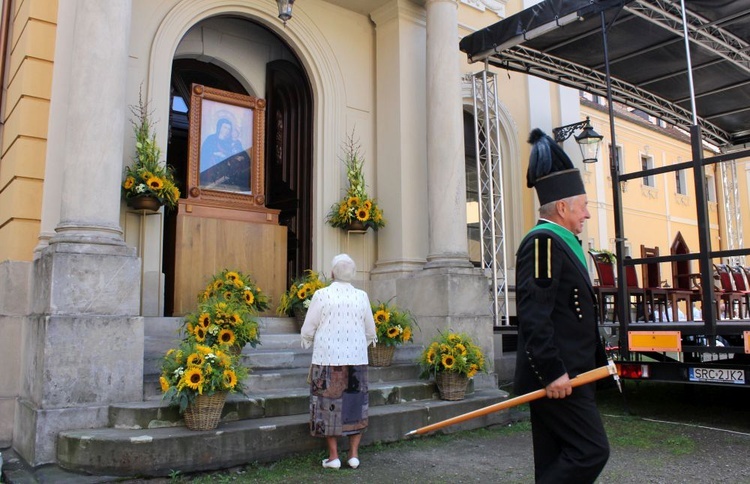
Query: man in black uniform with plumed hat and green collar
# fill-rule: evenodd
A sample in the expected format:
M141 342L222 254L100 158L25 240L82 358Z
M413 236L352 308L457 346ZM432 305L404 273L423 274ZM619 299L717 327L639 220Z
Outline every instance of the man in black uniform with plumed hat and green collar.
M535 129L529 143L527 184L541 207L517 253L514 390L544 388L548 397L530 403L536 482L594 482L609 458L595 384L570 385L571 378L606 364L576 237L590 218L586 191L579 171L549 136Z

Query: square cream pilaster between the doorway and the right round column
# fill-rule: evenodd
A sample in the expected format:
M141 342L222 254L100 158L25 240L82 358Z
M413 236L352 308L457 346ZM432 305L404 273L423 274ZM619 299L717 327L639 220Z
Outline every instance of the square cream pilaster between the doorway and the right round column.
M375 23L377 198L388 225L378 232L371 295L394 296L393 280L421 270L428 250L424 95L425 12L392 0L370 14ZM394 183L394 180L399 180Z

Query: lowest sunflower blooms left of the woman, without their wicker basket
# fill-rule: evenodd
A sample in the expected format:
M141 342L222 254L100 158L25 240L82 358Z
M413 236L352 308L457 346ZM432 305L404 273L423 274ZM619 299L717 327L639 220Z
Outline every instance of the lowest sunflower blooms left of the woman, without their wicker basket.
M183 413L198 395L242 391L249 370L240 364L239 355L227 350L226 345L186 340L167 351L159 377L163 398Z

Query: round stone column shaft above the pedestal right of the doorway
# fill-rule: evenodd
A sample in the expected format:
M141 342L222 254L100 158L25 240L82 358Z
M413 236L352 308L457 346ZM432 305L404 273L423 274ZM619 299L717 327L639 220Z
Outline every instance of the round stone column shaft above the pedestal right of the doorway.
M425 267L472 267L466 237L458 4L456 0L427 0L425 8L430 219L430 252Z

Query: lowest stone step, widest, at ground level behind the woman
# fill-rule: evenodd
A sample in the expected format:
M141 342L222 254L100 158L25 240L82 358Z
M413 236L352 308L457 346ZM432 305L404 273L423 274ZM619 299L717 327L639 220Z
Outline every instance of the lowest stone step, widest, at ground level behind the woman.
M420 400L370 409L364 445L394 442L411 430L503 401L502 390L481 390L460 401ZM175 471L223 469L251 462L323 450L325 441L310 437L308 415L226 421L215 430L185 427L155 429L87 429L61 432L58 464L73 472L111 476L168 476ZM507 424L507 411L453 425L455 432Z

